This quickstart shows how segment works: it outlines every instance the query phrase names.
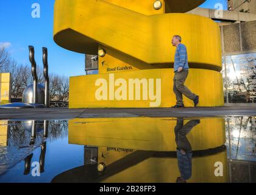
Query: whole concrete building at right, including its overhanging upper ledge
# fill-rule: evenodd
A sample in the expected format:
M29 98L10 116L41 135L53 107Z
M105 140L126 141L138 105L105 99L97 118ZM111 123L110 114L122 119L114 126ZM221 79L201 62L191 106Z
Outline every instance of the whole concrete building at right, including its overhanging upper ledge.
M227 1L229 10L197 7L188 13L217 21L221 30L226 105L256 102L256 1ZM249 104L248 104L249 103Z

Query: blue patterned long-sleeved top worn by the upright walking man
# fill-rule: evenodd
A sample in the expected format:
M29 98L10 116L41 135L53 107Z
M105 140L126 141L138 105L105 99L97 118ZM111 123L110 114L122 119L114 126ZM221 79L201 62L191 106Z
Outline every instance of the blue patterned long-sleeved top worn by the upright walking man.
M174 72L178 70L179 67L183 69L188 69L188 53L185 44L180 43L175 52L174 57Z

